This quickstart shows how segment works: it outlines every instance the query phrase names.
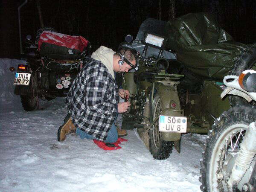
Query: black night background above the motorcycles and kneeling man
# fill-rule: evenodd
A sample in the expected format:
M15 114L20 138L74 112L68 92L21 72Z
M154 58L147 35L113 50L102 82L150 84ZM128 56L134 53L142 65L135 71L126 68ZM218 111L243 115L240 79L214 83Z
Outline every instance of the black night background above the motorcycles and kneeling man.
M0 58L19 58L17 8L24 0L0 1ZM116 49L125 35L137 35L148 17L169 20L170 2L175 2L175 17L191 12L211 12L236 41L256 41L256 0L40 0L44 26L57 32L81 35L93 45ZM159 9L161 8L161 9ZM161 10L161 14L159 14ZM21 8L23 40L34 40L40 28L36 0Z

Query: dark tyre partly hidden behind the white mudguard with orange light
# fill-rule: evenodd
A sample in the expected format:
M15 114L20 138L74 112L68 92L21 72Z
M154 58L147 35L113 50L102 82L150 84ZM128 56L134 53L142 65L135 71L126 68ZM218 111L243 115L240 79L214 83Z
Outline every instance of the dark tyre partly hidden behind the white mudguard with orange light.
M237 58L230 75L239 76L244 70L251 69L256 66L256 43L253 46L245 49L241 55ZM239 96L229 96L229 101L231 107L236 105L246 105L248 107L256 108L256 102L252 102L251 104L247 102L244 98Z

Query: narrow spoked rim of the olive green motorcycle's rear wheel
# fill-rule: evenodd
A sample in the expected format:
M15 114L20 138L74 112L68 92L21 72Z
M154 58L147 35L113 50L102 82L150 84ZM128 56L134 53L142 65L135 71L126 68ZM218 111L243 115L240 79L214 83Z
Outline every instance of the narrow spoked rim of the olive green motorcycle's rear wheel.
M159 116L161 111L162 111L161 101L160 101L160 99L157 99L157 103L154 108L153 119L155 119L157 116ZM160 142L161 142L161 133L158 128L159 128L159 121L157 120L153 126L153 141L154 141L154 146L157 149L159 148Z

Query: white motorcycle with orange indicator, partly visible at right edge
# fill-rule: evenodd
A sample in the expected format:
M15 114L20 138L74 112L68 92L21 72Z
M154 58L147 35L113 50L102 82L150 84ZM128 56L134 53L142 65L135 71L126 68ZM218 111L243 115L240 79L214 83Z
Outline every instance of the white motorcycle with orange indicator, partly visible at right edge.
M227 94L256 101L256 71L225 76ZM201 190L204 192L256 192L256 107L239 105L215 120L201 160Z

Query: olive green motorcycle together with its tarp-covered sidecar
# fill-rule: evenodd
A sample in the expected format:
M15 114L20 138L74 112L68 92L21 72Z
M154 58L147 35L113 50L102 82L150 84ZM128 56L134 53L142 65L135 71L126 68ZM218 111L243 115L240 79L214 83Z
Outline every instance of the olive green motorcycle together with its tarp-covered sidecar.
M173 145L180 152L181 134L206 134L230 107L228 98L220 99L225 75L255 67L246 61L233 69L247 45L235 42L208 13L169 22L149 18L125 46L138 52L139 70L124 76L131 107L122 128L137 128L158 160L168 158Z

